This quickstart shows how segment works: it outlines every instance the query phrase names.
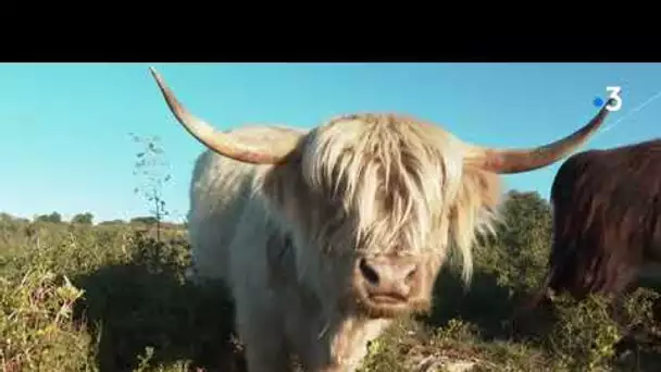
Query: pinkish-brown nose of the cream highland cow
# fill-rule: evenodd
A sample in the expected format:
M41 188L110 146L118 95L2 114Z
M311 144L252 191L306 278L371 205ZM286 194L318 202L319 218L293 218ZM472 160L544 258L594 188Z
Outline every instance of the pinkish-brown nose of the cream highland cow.
M417 272L410 260L391 257L362 258L359 271L371 296L394 297L406 300Z

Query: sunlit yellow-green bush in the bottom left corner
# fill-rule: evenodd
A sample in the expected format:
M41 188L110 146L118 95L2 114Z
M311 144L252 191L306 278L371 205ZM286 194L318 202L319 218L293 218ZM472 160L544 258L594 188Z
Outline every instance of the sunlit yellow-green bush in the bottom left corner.
M82 295L66 276L43 266L0 277L2 371L92 370L93 340L73 322Z

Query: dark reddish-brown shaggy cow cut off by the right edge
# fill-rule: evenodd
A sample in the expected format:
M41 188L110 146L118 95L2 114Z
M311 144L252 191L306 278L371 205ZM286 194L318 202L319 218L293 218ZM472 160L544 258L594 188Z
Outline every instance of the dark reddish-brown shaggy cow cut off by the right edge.
M661 139L568 159L551 189L548 287L619 295L661 260Z

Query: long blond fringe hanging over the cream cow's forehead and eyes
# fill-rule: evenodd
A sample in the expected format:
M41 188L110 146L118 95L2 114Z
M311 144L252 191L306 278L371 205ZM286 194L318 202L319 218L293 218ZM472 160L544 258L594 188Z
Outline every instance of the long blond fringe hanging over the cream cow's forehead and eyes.
M302 151L307 184L353 218L361 246L445 249L434 234L447 235L442 219L462 182L461 147L445 131L404 115L341 115L313 129Z

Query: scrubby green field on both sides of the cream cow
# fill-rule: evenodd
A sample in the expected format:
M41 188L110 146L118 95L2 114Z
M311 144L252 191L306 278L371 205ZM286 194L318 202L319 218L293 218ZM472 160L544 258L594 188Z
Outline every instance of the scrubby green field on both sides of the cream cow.
M496 238L475 247L472 285L450 262L431 314L370 345L362 371L661 371L652 307L638 289L614 323L606 298L565 297L510 321L544 280L550 210L512 191ZM43 219L47 220L47 219ZM14 371L241 371L232 302L186 283L183 226L0 221L0 365Z

